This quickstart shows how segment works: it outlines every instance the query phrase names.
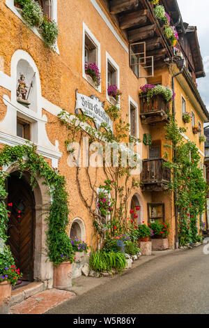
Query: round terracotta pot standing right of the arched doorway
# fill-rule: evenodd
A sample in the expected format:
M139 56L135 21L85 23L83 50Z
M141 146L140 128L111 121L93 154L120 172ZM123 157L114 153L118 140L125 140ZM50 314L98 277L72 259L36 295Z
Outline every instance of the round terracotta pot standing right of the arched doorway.
M62 262L54 267L53 286L59 290L68 290L72 286L72 263Z

